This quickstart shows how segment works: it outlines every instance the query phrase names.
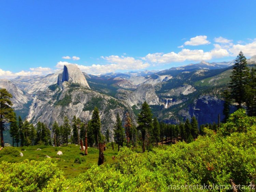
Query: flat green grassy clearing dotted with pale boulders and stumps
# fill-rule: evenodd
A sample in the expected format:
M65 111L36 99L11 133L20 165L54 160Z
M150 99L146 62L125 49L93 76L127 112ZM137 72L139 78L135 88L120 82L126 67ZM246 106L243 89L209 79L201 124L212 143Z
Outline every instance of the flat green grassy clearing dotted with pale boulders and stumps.
M109 144L106 145L107 149L104 151L104 164L112 164L112 156L115 156L117 161L117 145L114 150ZM41 150L37 149L40 148ZM26 151L25 151L26 150ZM58 156L57 152L62 151L63 155ZM141 151L141 147L137 146L137 151ZM23 153L23 157L19 156L19 152ZM61 147L52 146L29 146L29 147L4 147L0 151L0 162L7 161L10 163L22 162L25 159L43 161L47 159L45 156L52 158L52 162L56 162L59 169L62 170L66 178L74 178L80 173L84 173L94 164L98 164L99 150L96 148L88 148L88 155L85 156L84 152L79 150L79 145L74 144ZM80 157L82 163L74 163L76 157Z

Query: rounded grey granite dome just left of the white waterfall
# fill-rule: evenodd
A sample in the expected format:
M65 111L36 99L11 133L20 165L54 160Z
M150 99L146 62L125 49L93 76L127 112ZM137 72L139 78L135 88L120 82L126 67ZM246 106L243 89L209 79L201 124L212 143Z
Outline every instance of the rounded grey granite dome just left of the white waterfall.
M160 101L156 95L155 89L151 84L142 84L135 91L119 89L116 95L118 99L123 100L128 105L133 106L147 102L149 105L159 105Z

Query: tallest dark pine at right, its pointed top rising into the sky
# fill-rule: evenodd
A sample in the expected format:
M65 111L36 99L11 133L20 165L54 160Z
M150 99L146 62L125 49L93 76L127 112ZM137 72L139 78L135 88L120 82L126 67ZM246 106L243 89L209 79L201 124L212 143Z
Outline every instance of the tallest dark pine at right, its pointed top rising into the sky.
M234 64L232 76L230 76L230 94L231 98L238 103L238 108L241 108L242 103L246 101L246 85L248 83L249 69L247 67L246 58L240 51Z

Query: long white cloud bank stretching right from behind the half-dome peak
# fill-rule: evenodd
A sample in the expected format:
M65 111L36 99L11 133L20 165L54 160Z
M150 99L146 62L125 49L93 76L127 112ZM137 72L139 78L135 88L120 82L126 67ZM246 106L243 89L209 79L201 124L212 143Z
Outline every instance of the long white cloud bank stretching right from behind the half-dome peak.
M80 70L89 73L99 75L102 73L110 73L118 70L140 70L145 69L149 66L147 62L143 62L142 60L134 59L133 57L124 57L124 56L108 56L101 57L102 59L109 62L109 64L93 64L90 66L79 65L76 63L69 63L66 61L59 61L56 65L56 68L62 69L64 65L75 64L79 67Z

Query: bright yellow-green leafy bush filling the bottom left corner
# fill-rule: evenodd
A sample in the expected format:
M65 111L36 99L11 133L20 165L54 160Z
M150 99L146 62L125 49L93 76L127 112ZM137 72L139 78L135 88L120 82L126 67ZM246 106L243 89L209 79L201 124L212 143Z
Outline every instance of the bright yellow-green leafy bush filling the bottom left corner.
M25 160L15 164L2 162L0 178L1 191L38 191L45 188L49 182L63 179L63 173L51 160Z

